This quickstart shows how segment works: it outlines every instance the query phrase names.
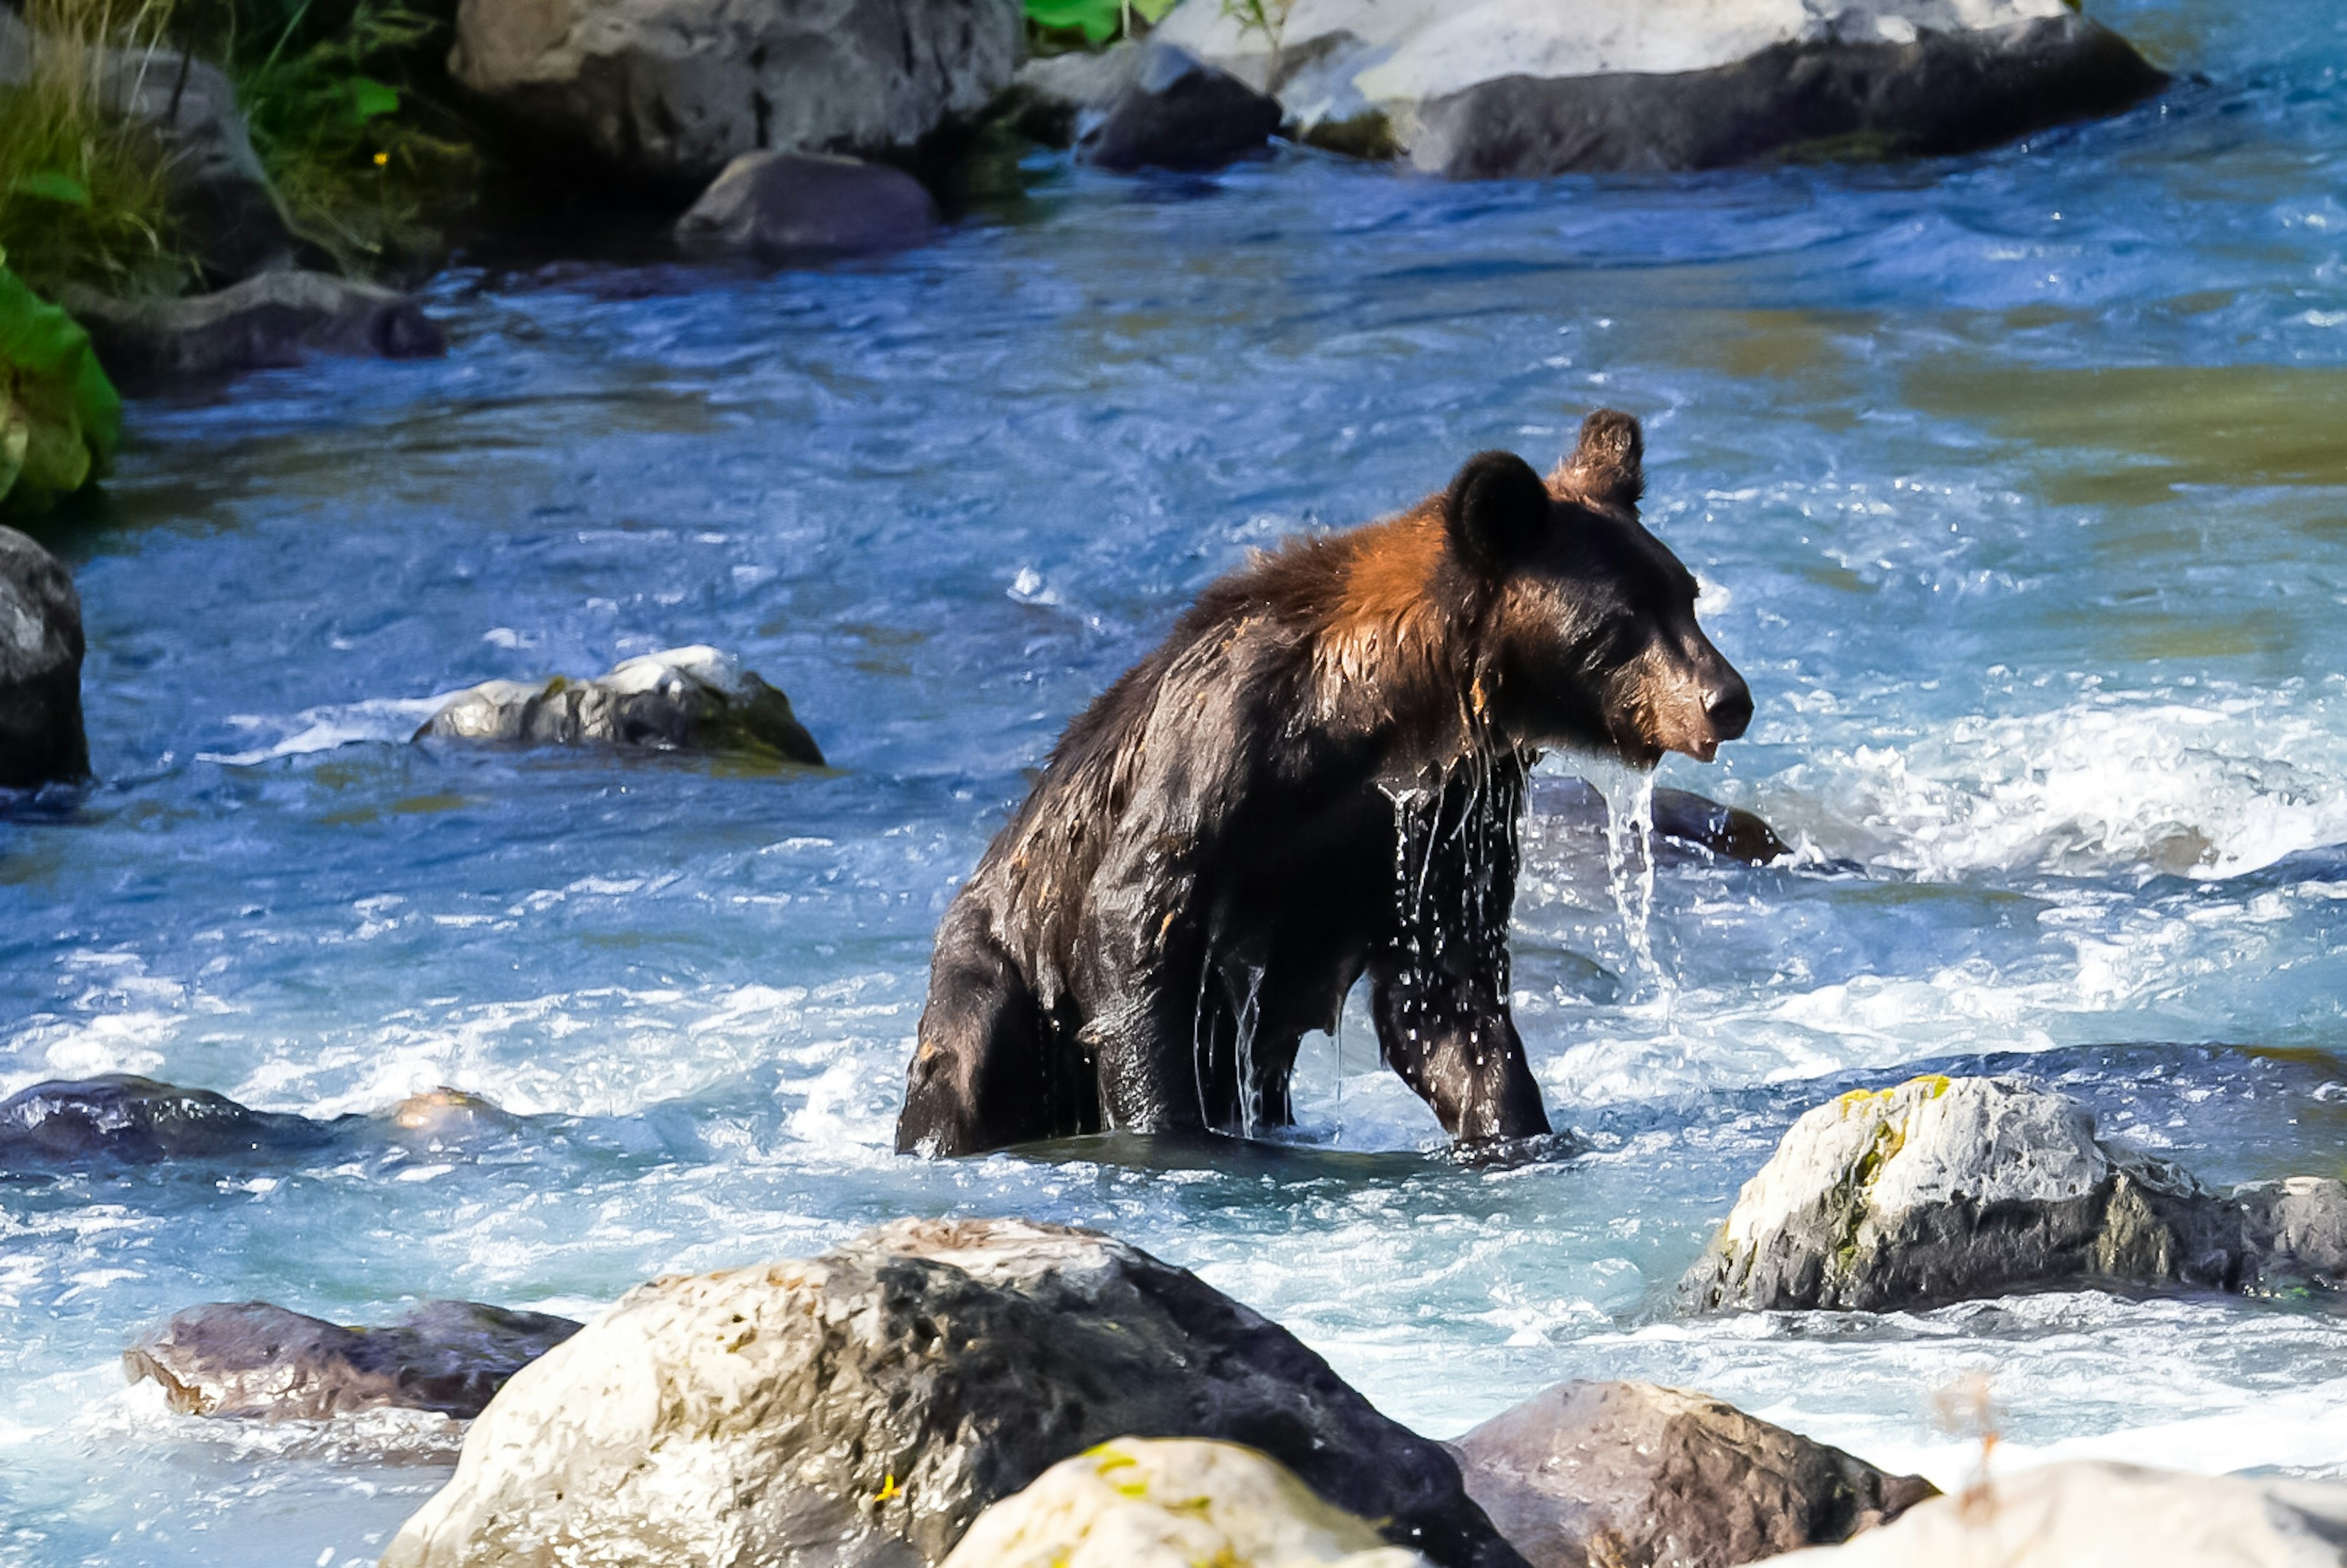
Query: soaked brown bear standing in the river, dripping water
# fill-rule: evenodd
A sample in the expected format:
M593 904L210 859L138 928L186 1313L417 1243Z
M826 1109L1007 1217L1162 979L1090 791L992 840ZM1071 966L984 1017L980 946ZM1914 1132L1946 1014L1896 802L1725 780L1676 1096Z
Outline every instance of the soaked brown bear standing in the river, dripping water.
M1291 1122L1366 972L1378 1047L1460 1141L1549 1131L1509 1016L1540 751L1711 761L1751 721L1695 577L1591 413L1542 481L1443 495L1213 582L1068 725L936 932L897 1148Z

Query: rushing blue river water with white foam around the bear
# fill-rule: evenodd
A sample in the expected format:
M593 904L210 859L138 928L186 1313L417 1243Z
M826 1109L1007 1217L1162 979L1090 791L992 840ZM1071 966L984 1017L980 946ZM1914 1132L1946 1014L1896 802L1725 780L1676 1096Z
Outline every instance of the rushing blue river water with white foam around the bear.
M1434 1434L1636 1376L1953 1481L1934 1394L1990 1368L2023 1458L2347 1474L2319 1305L1669 1310L1802 1108L1917 1066L2040 1073L2216 1181L2347 1171L2347 12L2091 9L2199 80L1894 169L1042 160L887 263L460 268L446 361L134 404L54 540L103 782L0 822L0 1091L521 1120L0 1183L0 1561L371 1561L446 1476L441 1418L122 1387L181 1305L591 1312L899 1214L1108 1228ZM1519 1019L1594 1153L1448 1160L1354 1014L1296 1148L894 1157L932 925L1068 716L1249 547L1547 465L1596 404L1760 704L1662 782L1800 854L1664 857L1648 965L1601 833L1535 824ZM678 643L836 772L404 744Z

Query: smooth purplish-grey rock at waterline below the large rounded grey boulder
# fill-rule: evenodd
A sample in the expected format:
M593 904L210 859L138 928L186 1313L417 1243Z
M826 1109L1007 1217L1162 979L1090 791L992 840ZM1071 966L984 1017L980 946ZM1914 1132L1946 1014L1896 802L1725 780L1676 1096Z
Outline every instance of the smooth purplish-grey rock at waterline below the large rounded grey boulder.
M901 169L819 153L744 153L676 221L695 251L767 261L897 251L936 230L936 202Z

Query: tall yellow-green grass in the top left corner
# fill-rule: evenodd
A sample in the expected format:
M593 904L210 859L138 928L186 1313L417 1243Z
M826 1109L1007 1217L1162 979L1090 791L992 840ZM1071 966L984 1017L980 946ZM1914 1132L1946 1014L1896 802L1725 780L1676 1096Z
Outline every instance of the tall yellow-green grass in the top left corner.
M110 52L157 54L169 0L28 0L28 80L0 94L0 251L35 289L178 293L192 277L164 148L106 113Z

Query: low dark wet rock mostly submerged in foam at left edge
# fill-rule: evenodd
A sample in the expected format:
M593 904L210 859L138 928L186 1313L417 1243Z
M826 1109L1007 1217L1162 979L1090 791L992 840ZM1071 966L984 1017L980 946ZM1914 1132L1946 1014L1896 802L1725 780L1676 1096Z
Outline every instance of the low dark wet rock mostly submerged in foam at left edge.
M33 1084L0 1101L0 1171L275 1155L331 1141L326 1122L131 1073Z

